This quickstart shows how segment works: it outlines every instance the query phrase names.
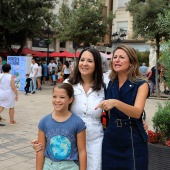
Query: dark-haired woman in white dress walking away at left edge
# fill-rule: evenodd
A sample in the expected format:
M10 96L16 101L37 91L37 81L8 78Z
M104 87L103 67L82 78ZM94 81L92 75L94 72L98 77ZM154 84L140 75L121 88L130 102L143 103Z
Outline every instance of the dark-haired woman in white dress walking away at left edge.
M15 101L18 100L18 92L15 86L14 77L10 74L10 64L2 66L3 72L0 74L0 113L4 108L9 108L10 124L16 124L14 120ZM4 120L0 117L0 121Z

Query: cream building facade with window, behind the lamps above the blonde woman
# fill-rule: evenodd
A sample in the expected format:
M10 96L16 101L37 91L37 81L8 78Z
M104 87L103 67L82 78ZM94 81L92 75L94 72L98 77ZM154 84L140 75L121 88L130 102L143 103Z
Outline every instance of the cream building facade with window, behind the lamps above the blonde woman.
M120 33L120 30L124 30L126 36L124 36L124 40L122 42L117 42L116 40L112 42L112 50L118 43L125 43L131 45L133 48L139 51L149 51L150 45L146 43L146 41L142 38L133 38L133 28L132 22L133 17L130 15L128 11L126 11L126 3L129 0L113 0L113 13L116 14L116 17L113 20L112 26L112 35L115 33ZM112 38L114 38L112 36Z

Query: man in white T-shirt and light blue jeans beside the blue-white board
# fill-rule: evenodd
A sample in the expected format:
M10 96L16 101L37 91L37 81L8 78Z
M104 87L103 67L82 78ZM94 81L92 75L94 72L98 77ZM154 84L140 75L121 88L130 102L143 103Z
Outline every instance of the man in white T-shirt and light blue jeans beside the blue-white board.
M36 81L37 81L37 73L38 73L38 64L35 62L35 59L32 58L31 60L31 71L30 71L30 78L32 81L30 82L30 91L32 91L32 94L36 93Z

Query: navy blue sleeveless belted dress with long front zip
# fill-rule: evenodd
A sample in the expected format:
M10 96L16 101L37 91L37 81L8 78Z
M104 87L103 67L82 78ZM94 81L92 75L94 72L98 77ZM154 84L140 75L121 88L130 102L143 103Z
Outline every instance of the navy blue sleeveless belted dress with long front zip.
M106 99L118 99L134 105L138 88L145 83L129 80L119 89L119 82L109 82ZM149 92L148 92L149 95ZM140 119L129 118L116 108L110 110L110 121L102 143L102 170L147 170L148 136Z

